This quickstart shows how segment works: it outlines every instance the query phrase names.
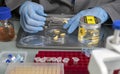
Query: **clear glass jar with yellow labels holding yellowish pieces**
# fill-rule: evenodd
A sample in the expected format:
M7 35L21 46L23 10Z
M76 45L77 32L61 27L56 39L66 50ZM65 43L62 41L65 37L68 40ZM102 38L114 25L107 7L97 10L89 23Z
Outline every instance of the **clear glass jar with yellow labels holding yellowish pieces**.
M78 41L87 46L97 46L100 38L100 19L95 16L80 18Z

